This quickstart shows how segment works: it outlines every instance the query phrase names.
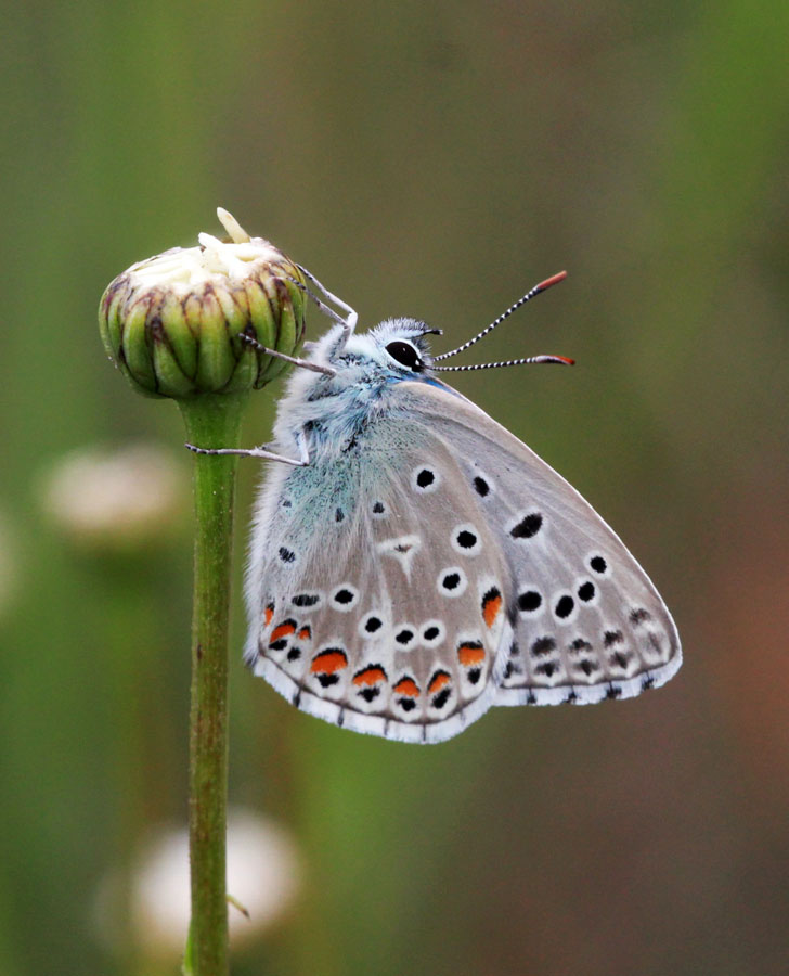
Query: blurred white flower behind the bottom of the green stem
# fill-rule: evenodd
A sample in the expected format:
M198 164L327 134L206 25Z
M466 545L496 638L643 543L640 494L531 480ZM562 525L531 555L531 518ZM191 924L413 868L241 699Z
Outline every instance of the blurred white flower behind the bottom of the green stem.
M296 845L282 826L249 810L228 816L228 894L249 913L229 906L230 942L238 948L273 925L293 904L300 884ZM98 923L113 935L118 878L100 889ZM190 922L189 833L168 830L154 837L132 862L129 934L145 956L177 959Z

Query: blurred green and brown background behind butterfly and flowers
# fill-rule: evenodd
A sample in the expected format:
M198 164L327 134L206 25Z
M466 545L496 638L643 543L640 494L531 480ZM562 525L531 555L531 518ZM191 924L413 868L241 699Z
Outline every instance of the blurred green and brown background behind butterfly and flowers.
M575 369L456 385L622 535L686 662L642 698L494 709L419 748L254 680L236 603L231 796L290 833L301 886L234 973L789 972L785 0L1 9L0 973L178 968L101 891L185 822L189 459L95 309L132 261L219 233L218 204L363 325L418 316L439 348L568 268L477 361ZM66 531L64 457L140 441L184 477L172 530ZM258 478L242 464L237 583Z

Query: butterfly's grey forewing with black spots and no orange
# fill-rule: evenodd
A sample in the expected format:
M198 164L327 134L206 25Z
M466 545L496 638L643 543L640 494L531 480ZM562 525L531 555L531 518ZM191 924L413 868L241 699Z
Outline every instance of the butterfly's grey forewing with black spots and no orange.
M494 704L625 698L673 677L682 664L674 621L591 505L469 400L402 386L413 415L461 459L508 566L514 637L501 648Z

